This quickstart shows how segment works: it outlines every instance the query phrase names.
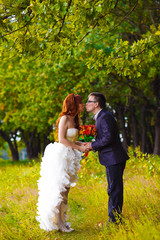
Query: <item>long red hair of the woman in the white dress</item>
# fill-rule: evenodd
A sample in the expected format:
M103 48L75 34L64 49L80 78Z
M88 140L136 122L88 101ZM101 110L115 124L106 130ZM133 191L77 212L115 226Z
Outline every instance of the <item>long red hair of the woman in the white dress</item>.
M59 121L62 116L69 115L75 116L75 127L79 128L79 104L82 103L82 97L80 95L69 94L63 101L62 112L58 118L56 125L58 127Z

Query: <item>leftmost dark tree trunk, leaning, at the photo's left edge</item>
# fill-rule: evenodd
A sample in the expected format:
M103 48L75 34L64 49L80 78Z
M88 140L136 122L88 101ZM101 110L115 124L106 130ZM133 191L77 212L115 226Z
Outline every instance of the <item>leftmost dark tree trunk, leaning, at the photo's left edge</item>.
M4 132L3 130L0 130L0 134L1 134L2 138L6 142L8 142L9 148L11 150L12 160L14 162L19 161L19 153L18 153L18 147L17 147L17 142L16 142L16 136L11 137L11 138L13 138L13 141L12 141L11 138L9 137L9 134ZM13 133L10 133L10 134L13 135Z

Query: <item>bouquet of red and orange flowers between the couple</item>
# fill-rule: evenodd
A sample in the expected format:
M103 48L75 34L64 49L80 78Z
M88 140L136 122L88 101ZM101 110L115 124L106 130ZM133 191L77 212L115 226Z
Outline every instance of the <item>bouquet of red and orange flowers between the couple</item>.
M97 131L95 125L83 125L79 127L79 140L84 142L93 141L95 136L97 135ZM88 156L88 153L85 153L85 156Z

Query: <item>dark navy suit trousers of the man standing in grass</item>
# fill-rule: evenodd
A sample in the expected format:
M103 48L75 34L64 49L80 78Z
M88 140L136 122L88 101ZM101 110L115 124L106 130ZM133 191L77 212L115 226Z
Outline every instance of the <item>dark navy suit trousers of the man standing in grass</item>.
M106 167L108 181L107 193L109 222L116 223L121 220L123 205L123 171L126 162Z

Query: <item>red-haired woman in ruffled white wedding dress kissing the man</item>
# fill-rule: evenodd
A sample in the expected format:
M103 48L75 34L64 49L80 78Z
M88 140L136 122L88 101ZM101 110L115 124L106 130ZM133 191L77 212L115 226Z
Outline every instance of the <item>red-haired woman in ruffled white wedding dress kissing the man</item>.
M37 221L41 229L71 232L67 223L67 201L70 187L75 185L81 152L78 140L79 113L84 110L80 95L69 94L57 120L59 142L47 145L38 180Z

